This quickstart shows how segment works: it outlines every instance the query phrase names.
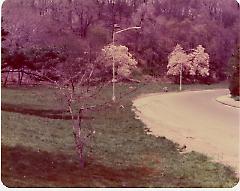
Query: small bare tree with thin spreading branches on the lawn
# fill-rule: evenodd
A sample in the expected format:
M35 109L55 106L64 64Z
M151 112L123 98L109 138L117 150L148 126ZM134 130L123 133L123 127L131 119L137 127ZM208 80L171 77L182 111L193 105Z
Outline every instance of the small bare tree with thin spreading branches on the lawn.
M127 51L121 52L121 55L127 57L129 53ZM101 58L102 56L103 55L101 55ZM108 56L109 55L106 56L106 59L108 59ZM130 60L132 61L132 59ZM109 100L105 98L101 100L101 98L97 96L104 87L110 85L112 82L111 76L109 76L109 79L104 76L108 64L105 66L99 63L98 66L96 62L90 63L87 58L84 60L80 57L68 59L66 62L68 63L63 63L62 66L51 69L55 73L54 76L57 76L57 79L53 79L39 72L35 72L32 75L47 80L51 86L57 89L56 92L62 99L61 103L64 103L63 105L71 115L75 147L79 156L80 165L83 167L86 158L86 146L89 145L90 138L95 133L90 125L83 125L83 120L86 119L86 113L88 113L88 111L92 112L105 109L106 107L112 106L112 104L119 104L121 97L123 98L127 94L130 94L136 90L137 87L130 89L129 93L125 92L125 95L120 95L121 97L119 97L118 102L113 103L110 98ZM125 62L130 61L125 59ZM135 61L132 62L135 63ZM128 67L129 69L127 69ZM119 72L119 77L122 76L124 79L129 78L131 68L131 64L125 63L124 70ZM119 80L121 80L121 78L119 78ZM129 78L129 80L134 81L131 78ZM136 80L135 82L138 83L139 81ZM98 98L97 102L95 102L96 97ZM89 119L91 120L91 117Z

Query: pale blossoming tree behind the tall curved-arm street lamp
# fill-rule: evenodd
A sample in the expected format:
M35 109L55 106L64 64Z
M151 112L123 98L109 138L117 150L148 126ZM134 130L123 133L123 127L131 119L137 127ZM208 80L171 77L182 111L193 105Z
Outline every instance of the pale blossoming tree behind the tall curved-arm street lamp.
M136 68L137 61L129 53L126 46L107 45L102 49L100 56L101 63L104 63L111 70L112 64L115 64L116 73L119 77L128 78L132 69Z

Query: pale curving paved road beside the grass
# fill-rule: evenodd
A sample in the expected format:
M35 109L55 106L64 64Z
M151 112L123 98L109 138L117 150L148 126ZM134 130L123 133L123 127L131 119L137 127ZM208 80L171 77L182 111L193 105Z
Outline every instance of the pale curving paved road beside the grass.
M221 89L151 94L134 100L134 106L152 134L186 145L187 151L204 153L239 172L240 109L215 100L228 93Z

